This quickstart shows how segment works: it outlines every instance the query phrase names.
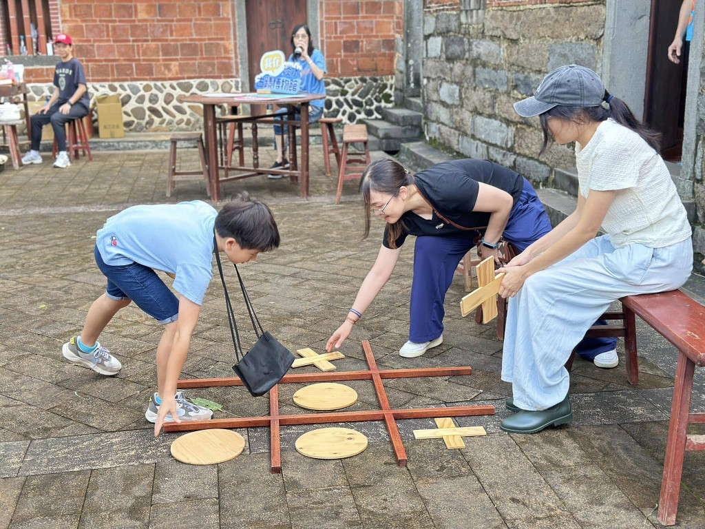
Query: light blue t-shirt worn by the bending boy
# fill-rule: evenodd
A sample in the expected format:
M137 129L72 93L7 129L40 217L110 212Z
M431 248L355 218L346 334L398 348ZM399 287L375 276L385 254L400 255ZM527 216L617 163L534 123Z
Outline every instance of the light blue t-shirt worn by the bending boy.
M202 200L128 207L98 230L106 265L138 262L176 275L173 288L200 305L213 277L213 228L218 213Z

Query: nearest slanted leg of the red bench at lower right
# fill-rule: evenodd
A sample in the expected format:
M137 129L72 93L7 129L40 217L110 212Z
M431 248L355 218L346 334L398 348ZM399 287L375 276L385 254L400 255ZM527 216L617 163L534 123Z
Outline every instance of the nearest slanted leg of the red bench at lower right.
M678 368L675 372L673 404L670 407L666 460L663 461L661 498L658 500L658 521L663 525L673 525L678 511L680 476L685 456L690 394L693 389L695 364L683 353L678 353Z

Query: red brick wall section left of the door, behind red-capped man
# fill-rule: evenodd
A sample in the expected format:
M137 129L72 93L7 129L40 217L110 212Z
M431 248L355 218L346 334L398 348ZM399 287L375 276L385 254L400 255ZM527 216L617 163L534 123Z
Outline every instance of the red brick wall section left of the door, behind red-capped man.
M231 0L61 0L61 30L92 82L236 77ZM31 68L28 80L50 80ZM48 73L48 75L47 75Z

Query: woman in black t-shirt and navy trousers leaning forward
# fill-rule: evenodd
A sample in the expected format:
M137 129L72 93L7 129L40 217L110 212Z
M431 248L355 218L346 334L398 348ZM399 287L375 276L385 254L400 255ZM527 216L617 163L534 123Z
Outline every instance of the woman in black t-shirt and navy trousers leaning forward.
M475 236L479 254L498 260L502 238L520 251L551 231L531 184L503 166L477 159L453 160L416 175L390 159L367 166L360 183L369 235L369 212L384 217L384 240L362 282L353 308L333 333L327 350L340 347L357 319L386 284L407 235L417 236L405 358L443 343L443 299L462 256ZM486 226L486 229L484 228Z

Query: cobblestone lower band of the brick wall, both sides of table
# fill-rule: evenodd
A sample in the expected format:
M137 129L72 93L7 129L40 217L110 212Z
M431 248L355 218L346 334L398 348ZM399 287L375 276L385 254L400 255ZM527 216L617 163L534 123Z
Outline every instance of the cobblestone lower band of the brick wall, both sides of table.
M326 78L326 115L341 116L345 123L358 118L379 118L382 107L393 104L394 78L348 77ZM190 79L180 81L140 81L134 83L88 83L92 99L97 95L116 94L123 105L126 132L168 132L201 130L203 107L180 102L180 97L206 92L238 92L240 79ZM44 101L54 85L30 85L28 99ZM93 100L92 100L93 102ZM97 126L97 114L93 114Z

